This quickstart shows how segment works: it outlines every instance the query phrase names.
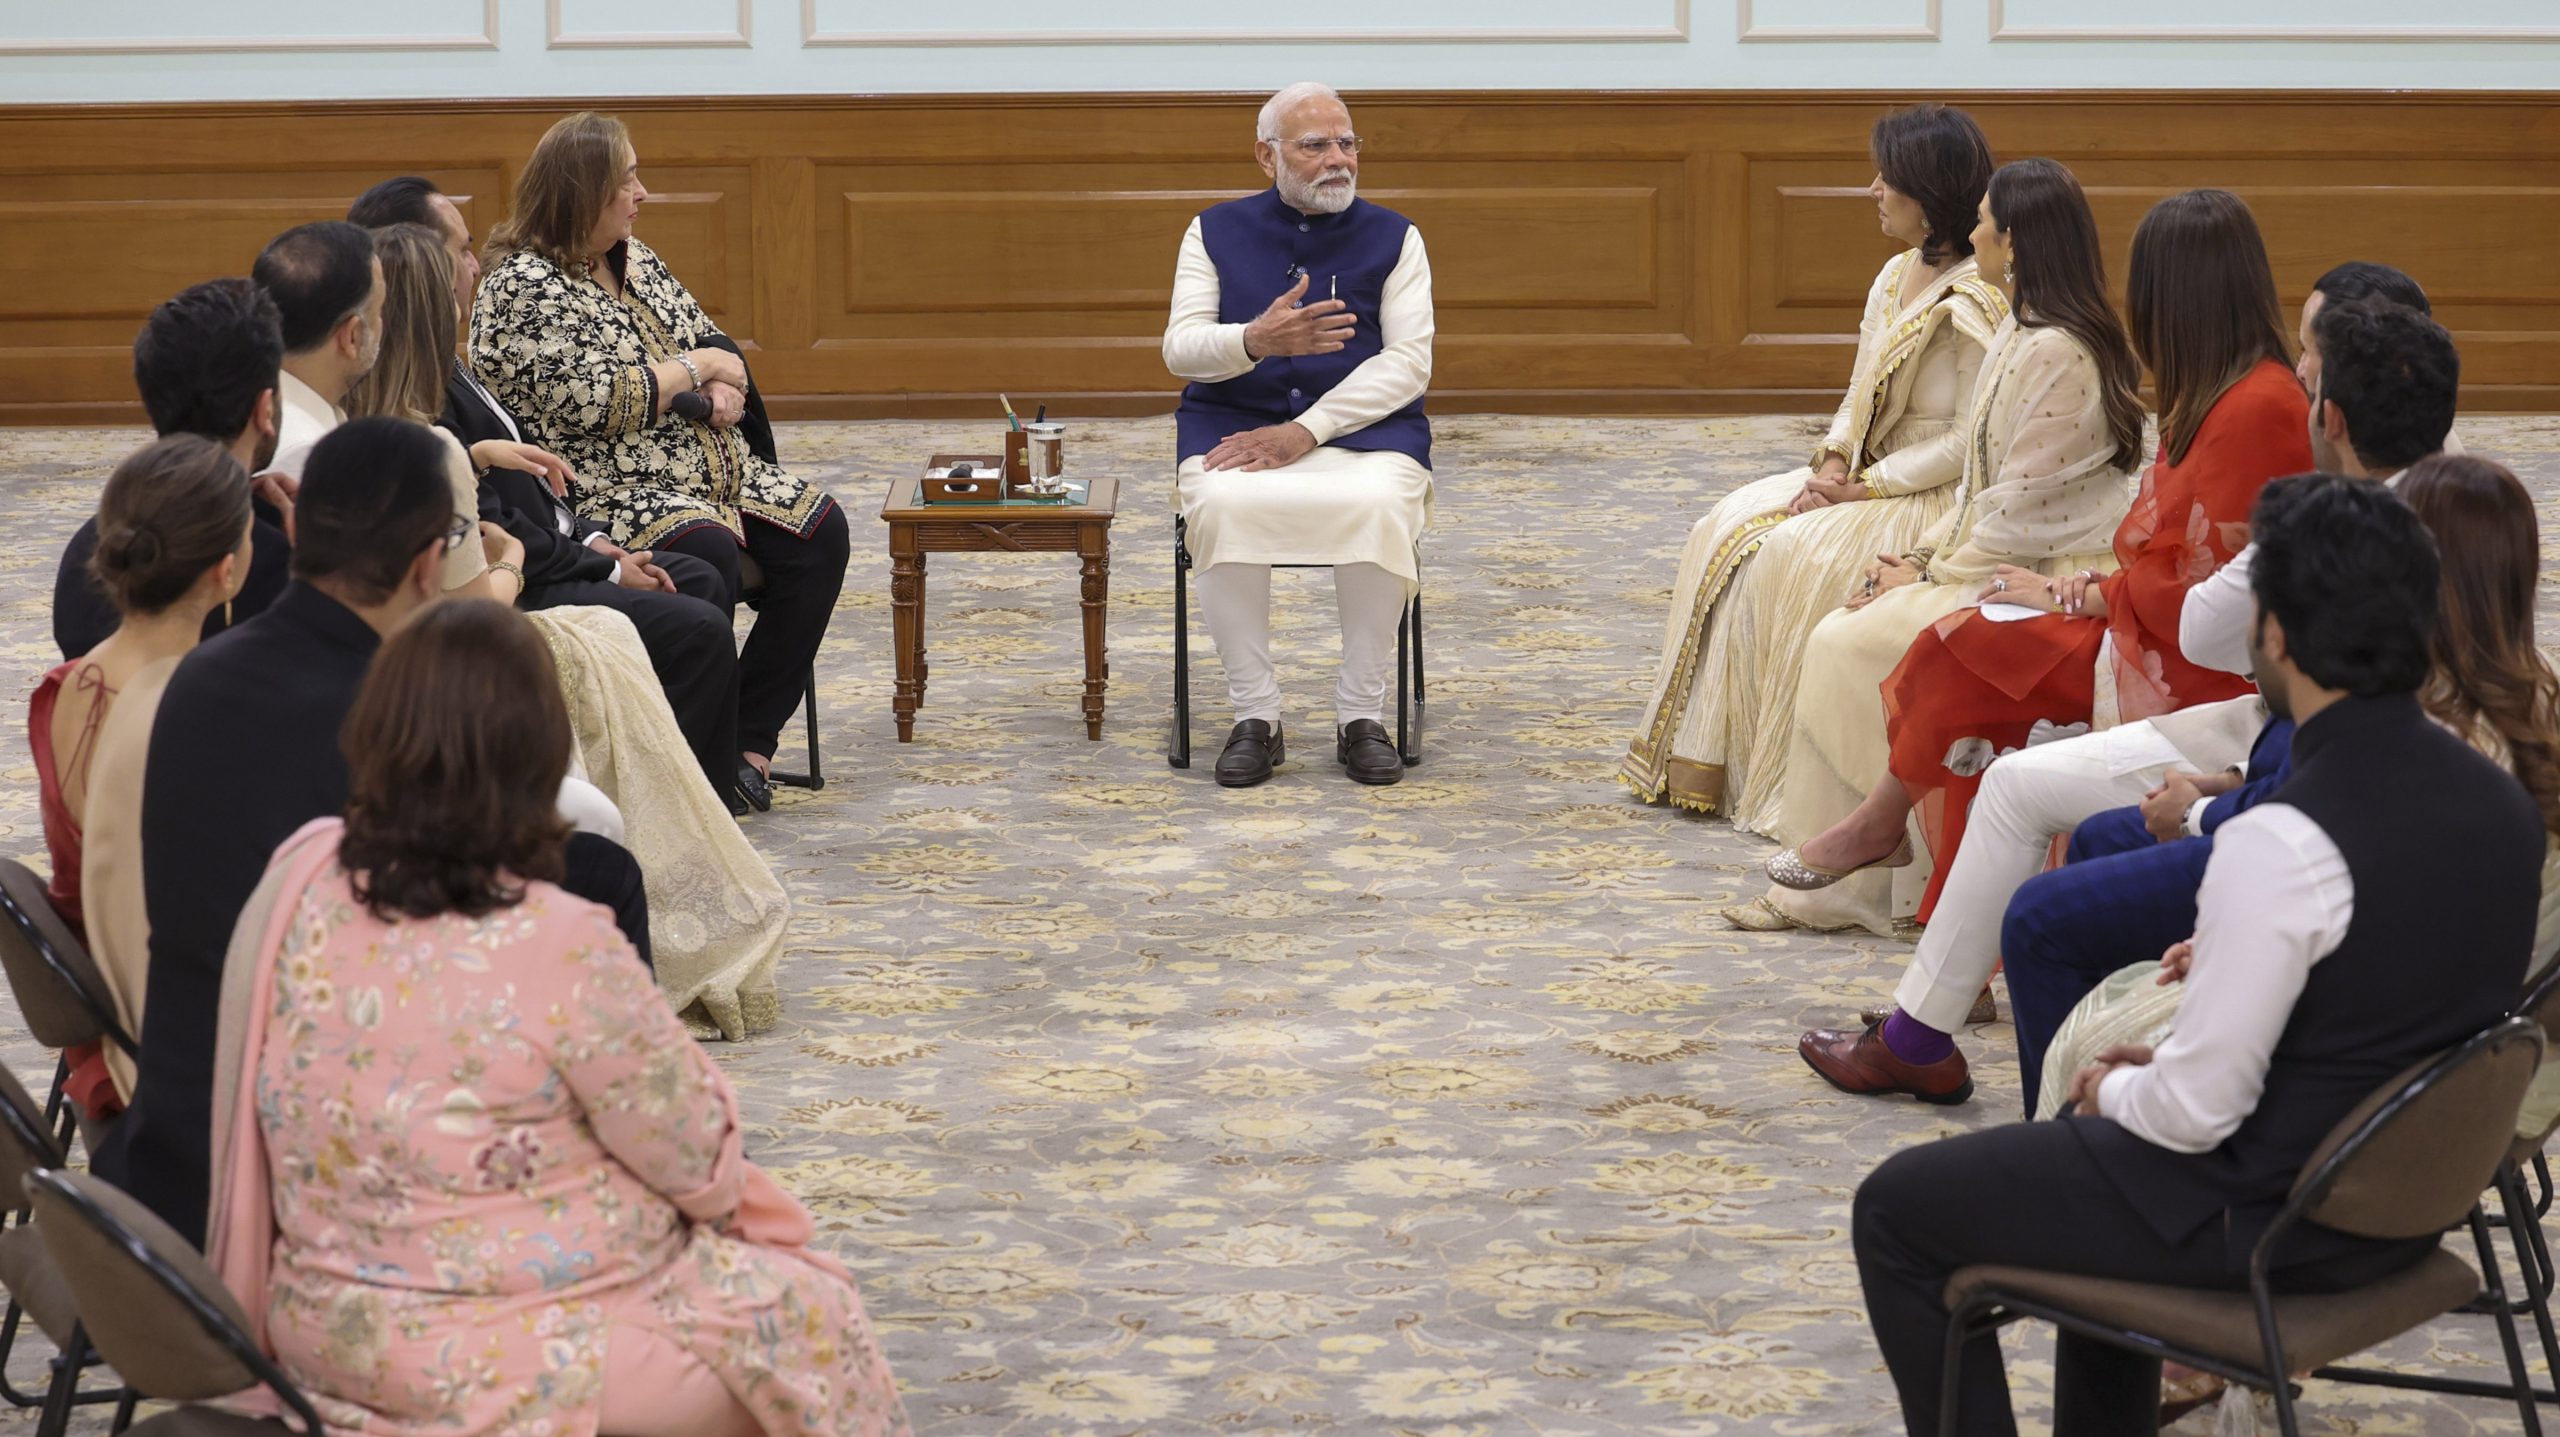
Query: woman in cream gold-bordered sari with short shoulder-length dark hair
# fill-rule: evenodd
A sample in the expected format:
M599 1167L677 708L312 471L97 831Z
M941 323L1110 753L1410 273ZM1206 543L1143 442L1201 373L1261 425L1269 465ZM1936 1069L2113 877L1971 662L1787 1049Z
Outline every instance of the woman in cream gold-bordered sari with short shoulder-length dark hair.
M1654 692L1618 776L1649 804L1777 817L1784 704L1805 635L1874 561L1910 548L1956 502L1964 412L1981 351L2010 313L1974 266L1974 207L1992 149L1964 110L1876 120L1869 192L1912 246L1876 274L1859 359L1812 461L1725 494L1690 528Z

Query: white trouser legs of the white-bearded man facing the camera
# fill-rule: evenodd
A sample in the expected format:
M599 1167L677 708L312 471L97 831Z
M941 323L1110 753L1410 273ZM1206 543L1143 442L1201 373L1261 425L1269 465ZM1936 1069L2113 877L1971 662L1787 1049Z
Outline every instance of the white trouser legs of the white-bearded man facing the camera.
M1201 620L1226 666L1226 697L1236 722L1280 722L1280 674L1272 669L1270 564L1213 564L1201 569ZM1388 717L1388 674L1395 669L1395 622L1405 612L1405 581L1377 564L1334 566L1334 610L1341 615L1341 676L1334 681L1334 722Z

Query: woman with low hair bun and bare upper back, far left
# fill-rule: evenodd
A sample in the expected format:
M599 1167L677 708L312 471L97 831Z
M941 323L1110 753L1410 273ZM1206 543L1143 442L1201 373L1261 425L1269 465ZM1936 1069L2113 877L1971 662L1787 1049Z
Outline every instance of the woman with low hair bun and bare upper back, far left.
M192 433L138 448L97 499L90 576L115 602L120 622L97 648L46 674L26 715L44 789L44 848L54 863L46 894L82 938L82 820L97 738L118 694L136 681L156 694L205 633L205 617L238 597L248 579L248 471L220 443ZM120 1014L128 1032L138 1017ZM120 1094L133 1091L128 1053L82 1045L64 1058L72 1066L64 1091L84 1114L123 1112Z

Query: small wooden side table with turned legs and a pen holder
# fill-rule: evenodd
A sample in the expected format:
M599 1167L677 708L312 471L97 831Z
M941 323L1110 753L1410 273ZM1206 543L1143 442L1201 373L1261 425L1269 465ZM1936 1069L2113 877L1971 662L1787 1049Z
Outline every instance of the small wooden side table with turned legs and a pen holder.
M937 453L927 466L952 459ZM888 525L888 620L899 651L899 689L891 710L899 715L899 743L916 740L916 710L924 707L924 556L927 553L1073 553L1083 558L1085 605L1085 738L1103 735L1103 686L1111 663L1103 656L1103 615L1111 605L1111 517L1119 507L1119 479L1101 474L1085 484L1083 502L998 499L988 505L924 505L916 499L922 474L893 479L881 502Z

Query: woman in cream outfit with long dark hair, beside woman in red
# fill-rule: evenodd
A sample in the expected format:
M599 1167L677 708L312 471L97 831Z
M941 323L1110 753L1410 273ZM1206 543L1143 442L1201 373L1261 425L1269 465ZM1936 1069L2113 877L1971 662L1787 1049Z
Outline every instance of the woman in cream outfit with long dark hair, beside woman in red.
M1856 809L1884 774L1879 689L1912 635L1979 602L2002 564L2043 574L2112 566L2115 528L2132 507L2140 369L2104 297L2097 220L2079 182L2051 159L2004 166L1984 197L1974 251L2004 274L2025 269L2012 279L2017 315L1984 356L1956 507L1912 553L1879 561L1805 643L1774 825L1787 843ZM1818 891L1772 889L1725 917L1748 930L1892 935L1897 912L1910 912L1928 881L1923 863L1897 858L1902 868L1866 868Z

